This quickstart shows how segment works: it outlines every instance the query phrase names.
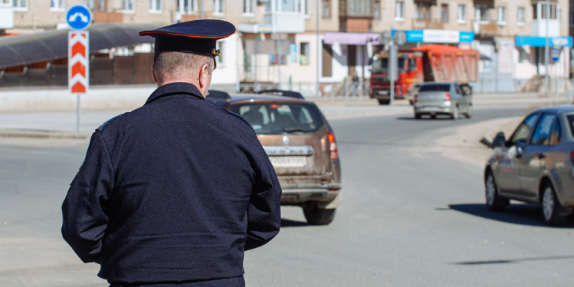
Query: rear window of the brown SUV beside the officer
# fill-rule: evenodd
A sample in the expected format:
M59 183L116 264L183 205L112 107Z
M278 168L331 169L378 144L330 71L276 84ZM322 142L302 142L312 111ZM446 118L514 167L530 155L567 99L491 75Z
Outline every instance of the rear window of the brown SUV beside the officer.
M317 106L290 103L233 104L231 110L241 115L260 135L283 132L315 132L323 126Z

